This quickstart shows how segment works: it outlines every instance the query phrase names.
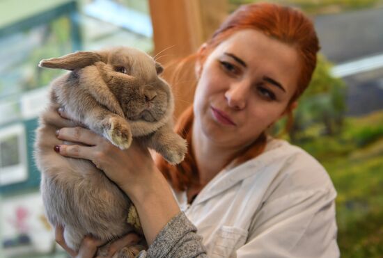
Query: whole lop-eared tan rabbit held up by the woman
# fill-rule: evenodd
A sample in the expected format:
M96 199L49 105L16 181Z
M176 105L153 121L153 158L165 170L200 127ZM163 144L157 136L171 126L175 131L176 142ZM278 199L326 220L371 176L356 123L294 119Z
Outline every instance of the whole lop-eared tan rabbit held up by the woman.
M86 234L103 243L132 231L142 234L134 205L102 170L91 161L61 156L53 146L73 144L58 140L56 130L81 126L121 150L134 138L169 163L180 163L187 152L186 140L173 132L173 95L159 77L162 66L130 47L77 51L42 60L39 66L70 71L52 82L49 104L36 129L34 157L42 174L40 191L49 222L65 227L65 243L72 250L79 250ZM58 115L59 107L70 120Z

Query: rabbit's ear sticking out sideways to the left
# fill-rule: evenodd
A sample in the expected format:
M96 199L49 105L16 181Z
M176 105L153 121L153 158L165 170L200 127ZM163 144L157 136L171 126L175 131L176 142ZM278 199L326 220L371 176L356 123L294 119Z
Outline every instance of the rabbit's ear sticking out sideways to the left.
M102 61L102 57L99 54L91 51L77 51L59 58L43 59L38 66L72 71L93 65L97 61Z

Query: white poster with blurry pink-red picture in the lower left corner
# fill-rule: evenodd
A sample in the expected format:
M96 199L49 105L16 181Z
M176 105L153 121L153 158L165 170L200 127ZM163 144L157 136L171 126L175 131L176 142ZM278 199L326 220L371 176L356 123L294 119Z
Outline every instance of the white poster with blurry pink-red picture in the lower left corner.
M55 251L54 232L44 215L40 193L2 198L0 202L3 257Z

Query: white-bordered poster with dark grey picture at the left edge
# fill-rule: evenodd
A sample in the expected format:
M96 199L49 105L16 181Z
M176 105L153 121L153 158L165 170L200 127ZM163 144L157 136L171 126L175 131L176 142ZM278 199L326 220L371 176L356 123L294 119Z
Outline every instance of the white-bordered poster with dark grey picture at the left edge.
M28 178L24 124L0 127L0 186Z

